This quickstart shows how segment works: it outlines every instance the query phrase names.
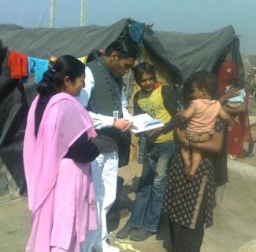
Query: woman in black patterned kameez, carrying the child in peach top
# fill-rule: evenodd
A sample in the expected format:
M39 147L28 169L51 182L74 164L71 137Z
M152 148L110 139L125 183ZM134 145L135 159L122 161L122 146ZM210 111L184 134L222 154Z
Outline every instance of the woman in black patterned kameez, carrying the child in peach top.
M200 83L200 85L199 85ZM192 75L185 86L192 100L195 87L198 91L207 91L207 99L217 97L217 77L207 71L199 71ZM194 88L191 88L194 87ZM187 88L185 88L187 90ZM188 101L190 99L186 99ZM218 114L218 113L217 113ZM179 116L179 115L178 115ZM224 139L224 122L214 119L214 130L205 141L187 140L184 127L176 130L182 148L197 150L202 161L193 173L191 167L185 166L180 150L173 155L169 170L169 181L165 189L163 212L169 214L170 233L173 250L176 252L198 252L202 245L204 225L213 225L213 207L216 186L227 181L227 177L214 177L213 158L221 151ZM199 137L200 138L200 137ZM193 162L193 160L192 160ZM186 170L185 170L186 168ZM226 176L226 166L218 166L219 174ZM220 182L221 181L221 182Z

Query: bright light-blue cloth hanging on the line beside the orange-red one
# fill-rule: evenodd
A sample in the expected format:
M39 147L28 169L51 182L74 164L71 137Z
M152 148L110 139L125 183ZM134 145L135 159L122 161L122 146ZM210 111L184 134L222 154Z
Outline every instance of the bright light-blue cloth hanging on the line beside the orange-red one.
M28 73L35 73L35 83L43 79L43 74L48 70L49 60L28 57Z

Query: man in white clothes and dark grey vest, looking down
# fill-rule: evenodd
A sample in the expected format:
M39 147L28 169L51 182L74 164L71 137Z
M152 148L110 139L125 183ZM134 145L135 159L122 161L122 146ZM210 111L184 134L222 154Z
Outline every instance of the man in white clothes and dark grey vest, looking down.
M121 48L122 50L118 51L122 43L128 43L129 45L126 46L128 49ZM113 133L108 133L107 130L124 132L131 126L128 119L124 119L128 114L125 108L128 104L122 90L121 76L127 74L133 67L137 52L132 40L117 39L108 46L104 56L88 64L85 69L85 88L80 93L80 97L77 97L77 100L80 100L89 111L98 136L102 137L98 146L101 154L91 163L99 228L97 231L88 232L83 243L83 252L119 251L117 247L112 247L106 242L109 238L106 214L116 198L118 170L118 146L113 141Z

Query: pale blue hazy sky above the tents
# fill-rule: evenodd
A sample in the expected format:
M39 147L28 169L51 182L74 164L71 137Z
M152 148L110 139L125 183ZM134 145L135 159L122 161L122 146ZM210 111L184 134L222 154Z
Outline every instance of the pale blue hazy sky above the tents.
M86 0L86 25L131 17L154 30L211 32L229 24L243 54L256 55L256 0ZM50 27L50 0L0 0L0 24ZM56 0L55 27L80 25L80 0Z

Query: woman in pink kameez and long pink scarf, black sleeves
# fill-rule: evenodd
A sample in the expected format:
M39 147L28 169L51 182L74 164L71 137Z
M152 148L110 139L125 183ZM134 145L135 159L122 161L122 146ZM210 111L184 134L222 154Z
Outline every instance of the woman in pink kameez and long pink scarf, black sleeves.
M32 232L27 252L80 252L87 230L97 228L90 162L91 118L74 98L84 86L84 65L59 57L43 75L28 113L24 169Z

